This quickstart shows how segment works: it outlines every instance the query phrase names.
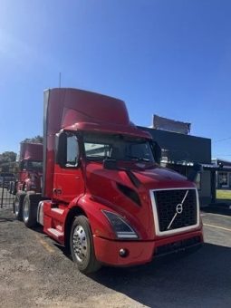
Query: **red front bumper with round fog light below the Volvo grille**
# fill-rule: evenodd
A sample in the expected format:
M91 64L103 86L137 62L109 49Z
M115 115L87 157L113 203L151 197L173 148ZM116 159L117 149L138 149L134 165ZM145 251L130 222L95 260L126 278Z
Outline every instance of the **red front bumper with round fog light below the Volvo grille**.
M93 236L95 255L105 265L142 265L157 255L188 250L203 243L202 230L155 241L111 241ZM128 254L120 256L120 249Z

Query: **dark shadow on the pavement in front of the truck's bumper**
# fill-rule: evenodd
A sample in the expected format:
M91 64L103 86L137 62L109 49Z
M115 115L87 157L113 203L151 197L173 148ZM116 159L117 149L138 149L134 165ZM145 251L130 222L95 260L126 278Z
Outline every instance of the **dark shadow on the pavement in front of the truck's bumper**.
M193 255L104 267L91 278L150 307L230 307L231 248L205 244Z

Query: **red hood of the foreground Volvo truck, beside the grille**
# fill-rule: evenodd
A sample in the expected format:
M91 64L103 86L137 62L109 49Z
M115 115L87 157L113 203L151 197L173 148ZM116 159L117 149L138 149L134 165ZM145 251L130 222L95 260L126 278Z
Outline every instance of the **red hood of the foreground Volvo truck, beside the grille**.
M188 182L187 178L157 166L147 169L137 164L129 171L106 169L96 162L86 166L87 193L109 210L126 217L135 228L137 226L143 239L154 237L149 190L188 187L193 188L194 184Z

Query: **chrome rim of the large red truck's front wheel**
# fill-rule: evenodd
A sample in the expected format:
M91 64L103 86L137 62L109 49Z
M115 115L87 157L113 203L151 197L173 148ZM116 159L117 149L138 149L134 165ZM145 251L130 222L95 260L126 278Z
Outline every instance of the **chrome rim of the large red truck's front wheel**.
M73 251L79 262L84 262L87 258L87 236L81 225L75 226L72 237Z

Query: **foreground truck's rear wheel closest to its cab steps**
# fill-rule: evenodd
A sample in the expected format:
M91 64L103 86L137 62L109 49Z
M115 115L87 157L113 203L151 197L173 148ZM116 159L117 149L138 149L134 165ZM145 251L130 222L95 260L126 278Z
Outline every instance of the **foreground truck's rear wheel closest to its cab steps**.
M34 193L27 193L25 195L23 206L23 220L25 226L31 228L37 225L37 209L40 200L41 195L36 195Z

